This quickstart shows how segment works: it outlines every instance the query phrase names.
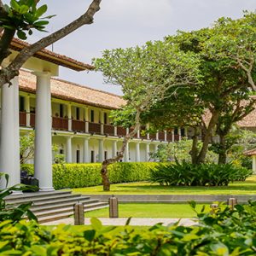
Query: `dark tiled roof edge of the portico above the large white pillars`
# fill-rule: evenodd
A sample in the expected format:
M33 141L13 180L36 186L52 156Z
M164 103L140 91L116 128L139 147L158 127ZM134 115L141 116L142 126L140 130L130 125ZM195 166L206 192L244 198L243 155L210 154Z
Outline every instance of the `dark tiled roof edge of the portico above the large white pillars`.
M21 49L23 49L24 47L27 47L29 45L30 44L28 44L18 38L14 38L10 45L10 49L20 51ZM76 70L76 71L94 69L94 67L89 64L86 64L86 63L83 63L80 61L76 61L76 60L69 58L65 55L56 54L56 53L50 51L49 49L41 49L36 54L34 54L34 56L37 57L38 59L42 59L44 61L49 61L49 62L55 63L57 65L60 65L62 67L68 67L68 68Z

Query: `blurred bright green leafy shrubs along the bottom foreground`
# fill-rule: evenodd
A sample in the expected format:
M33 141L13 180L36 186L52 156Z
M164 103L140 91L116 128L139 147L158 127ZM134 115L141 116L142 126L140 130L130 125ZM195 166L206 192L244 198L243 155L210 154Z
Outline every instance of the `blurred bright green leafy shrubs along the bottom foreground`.
M195 208L195 202L190 203ZM197 212L199 225L156 224L149 229L104 227L91 218L89 229L55 228L20 221L1 224L3 255L254 255L256 203ZM129 223L129 219L127 224Z

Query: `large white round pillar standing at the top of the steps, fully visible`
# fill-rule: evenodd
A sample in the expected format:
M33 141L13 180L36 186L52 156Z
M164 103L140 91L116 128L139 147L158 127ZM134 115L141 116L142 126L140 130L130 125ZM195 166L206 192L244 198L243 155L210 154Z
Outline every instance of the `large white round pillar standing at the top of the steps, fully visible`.
M35 177L42 191L52 191L51 149L51 96L50 74L34 73L37 76L36 127L35 127Z

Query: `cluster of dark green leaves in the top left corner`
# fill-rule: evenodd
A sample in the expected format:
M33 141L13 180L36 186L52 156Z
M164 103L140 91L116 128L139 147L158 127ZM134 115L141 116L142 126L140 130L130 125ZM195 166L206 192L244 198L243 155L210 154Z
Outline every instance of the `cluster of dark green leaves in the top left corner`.
M26 32L32 35L32 29L45 32L44 28L55 15L42 17L47 11L47 5L37 6L35 0L11 0L4 5L6 16L0 17L0 26L9 30L16 30L18 38L25 40Z

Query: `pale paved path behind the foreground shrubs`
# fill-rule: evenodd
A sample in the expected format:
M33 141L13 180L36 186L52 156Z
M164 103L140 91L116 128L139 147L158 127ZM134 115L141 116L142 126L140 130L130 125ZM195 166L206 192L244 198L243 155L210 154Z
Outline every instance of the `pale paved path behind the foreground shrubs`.
M98 218L101 220L103 225L125 225L127 218ZM157 223L163 223L164 225L173 224L177 222L179 218L131 218L130 225L132 226L152 226ZM45 225L56 225L56 224L73 224L73 218L63 218L51 222L44 223ZM90 218L85 218L85 225L90 224ZM191 226L196 224L196 220L192 218L181 218L180 224Z

